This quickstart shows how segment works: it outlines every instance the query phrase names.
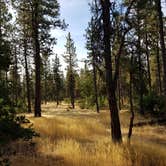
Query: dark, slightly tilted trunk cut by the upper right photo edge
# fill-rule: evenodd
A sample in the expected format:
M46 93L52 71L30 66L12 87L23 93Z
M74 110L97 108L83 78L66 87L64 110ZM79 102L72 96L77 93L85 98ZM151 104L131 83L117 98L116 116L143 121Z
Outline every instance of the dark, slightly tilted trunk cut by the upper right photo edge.
M157 12L159 19L159 34L160 34L160 45L161 45L161 53L163 60L163 87L164 87L164 95L166 96L166 47L164 41L164 25L163 25L163 15L161 10L161 0L156 0L157 4Z

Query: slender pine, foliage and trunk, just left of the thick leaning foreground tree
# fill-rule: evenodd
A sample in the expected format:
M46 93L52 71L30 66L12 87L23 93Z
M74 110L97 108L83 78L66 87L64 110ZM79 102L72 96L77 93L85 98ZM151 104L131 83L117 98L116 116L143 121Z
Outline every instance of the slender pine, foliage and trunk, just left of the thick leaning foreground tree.
M101 23L101 11L99 11L99 2L95 0L90 5L92 18L86 29L86 48L88 49L88 59L93 67L93 85L95 93L96 111L99 113L98 103L98 88L97 88L97 70L102 71L103 58L102 58L102 23ZM103 73L102 73L103 74Z

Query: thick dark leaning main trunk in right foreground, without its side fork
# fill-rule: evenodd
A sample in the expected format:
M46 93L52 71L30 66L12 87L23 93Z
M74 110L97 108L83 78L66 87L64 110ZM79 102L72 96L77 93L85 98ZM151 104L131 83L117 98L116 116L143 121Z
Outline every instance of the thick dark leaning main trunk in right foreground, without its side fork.
M104 60L106 70L106 88L107 97L110 109L111 117L111 135L113 142L121 142L122 134L119 120L119 112L117 107L117 100L115 96L115 82L112 76L112 58L110 48L110 1L101 0L102 5L102 19L103 19L103 30L104 30Z

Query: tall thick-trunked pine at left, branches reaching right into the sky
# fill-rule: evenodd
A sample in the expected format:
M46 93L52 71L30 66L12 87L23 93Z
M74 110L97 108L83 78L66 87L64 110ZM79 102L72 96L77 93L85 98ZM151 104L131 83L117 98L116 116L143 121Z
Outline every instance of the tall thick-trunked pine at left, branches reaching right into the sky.
M13 0L17 9L22 10L22 1ZM54 38L50 35L52 28L64 29L64 21L59 19L59 3L57 0L30 0L26 1L30 13L31 31L35 62L35 117L41 116L41 51L50 49ZM19 12L19 10L17 10ZM25 10L25 12L26 12ZM49 48L48 48L49 46Z

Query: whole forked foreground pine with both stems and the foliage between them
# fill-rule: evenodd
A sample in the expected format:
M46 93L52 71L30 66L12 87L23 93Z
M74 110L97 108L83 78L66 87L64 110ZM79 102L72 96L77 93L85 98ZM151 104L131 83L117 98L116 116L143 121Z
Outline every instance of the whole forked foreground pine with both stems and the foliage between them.
M119 78L120 60L125 46L126 35L131 30L128 18L134 2L134 0L130 1L126 11L121 14L116 10L116 4L114 2L111 3L109 0L100 0L103 20L105 79L111 117L111 134L114 142L122 141L119 112L116 101L116 89L117 80ZM119 19L119 16L123 19ZM120 42L118 43L117 41ZM115 63L113 57L115 58Z

